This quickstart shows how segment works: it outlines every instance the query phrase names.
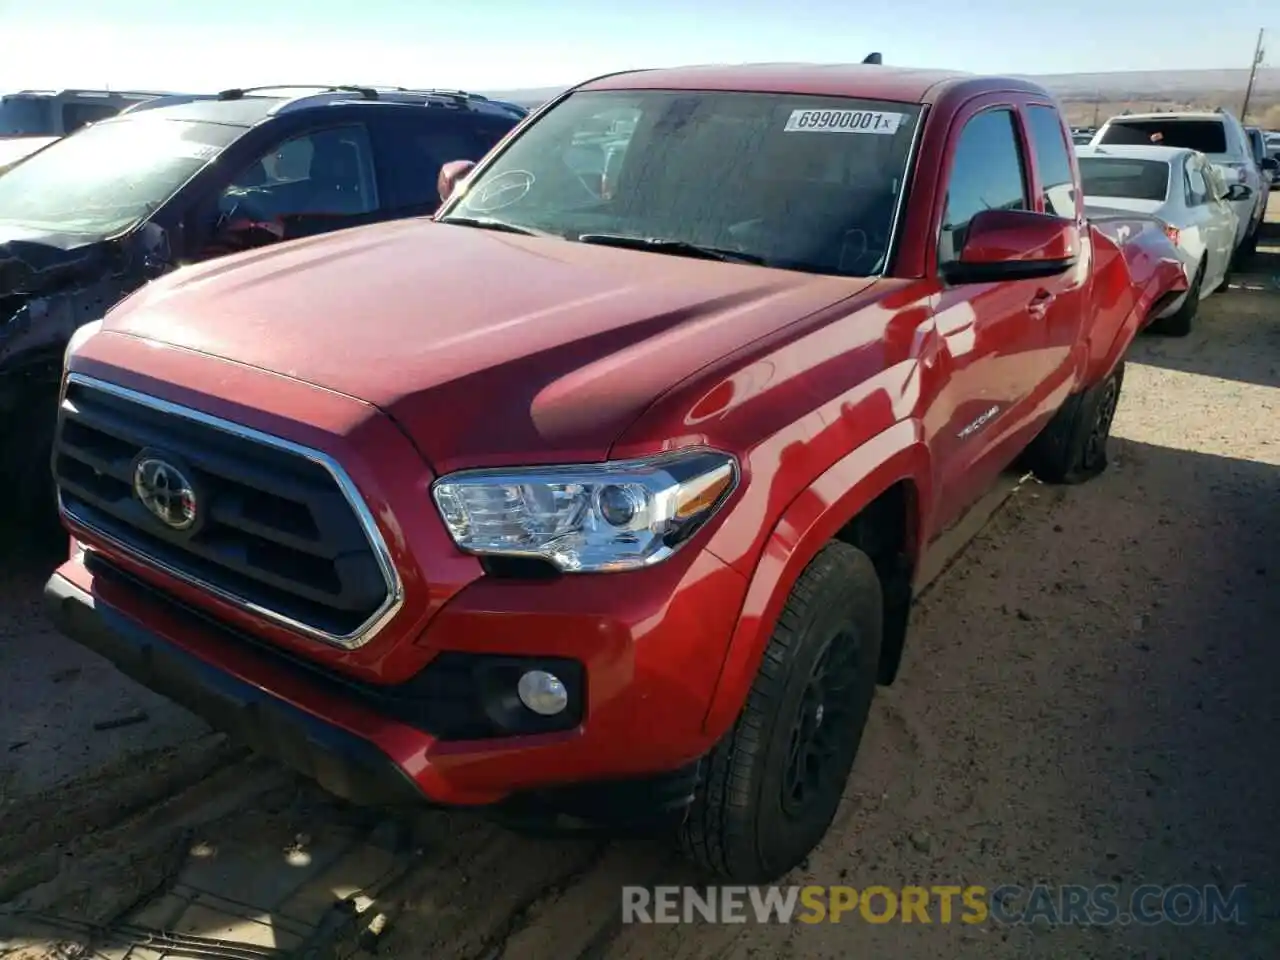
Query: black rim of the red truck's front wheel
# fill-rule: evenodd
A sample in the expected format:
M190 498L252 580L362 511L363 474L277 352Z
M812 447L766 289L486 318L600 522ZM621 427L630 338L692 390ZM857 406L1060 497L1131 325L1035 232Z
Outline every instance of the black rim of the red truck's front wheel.
M814 660L791 723L782 774L782 810L794 818L832 788L844 788L841 758L849 750L858 672L858 639L849 631L832 637Z

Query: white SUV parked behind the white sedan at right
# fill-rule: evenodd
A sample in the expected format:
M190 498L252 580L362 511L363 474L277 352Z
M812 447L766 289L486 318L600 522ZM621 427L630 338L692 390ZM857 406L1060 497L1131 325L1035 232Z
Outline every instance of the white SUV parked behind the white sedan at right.
M1221 169L1228 188L1242 184L1247 191L1233 189L1231 205L1240 218L1235 230L1235 248L1249 255L1258 242L1258 227L1267 209L1267 187L1262 170L1253 159L1253 146L1244 125L1225 110L1216 113L1123 114L1112 116L1093 136L1093 145L1149 143L1161 147L1198 150Z

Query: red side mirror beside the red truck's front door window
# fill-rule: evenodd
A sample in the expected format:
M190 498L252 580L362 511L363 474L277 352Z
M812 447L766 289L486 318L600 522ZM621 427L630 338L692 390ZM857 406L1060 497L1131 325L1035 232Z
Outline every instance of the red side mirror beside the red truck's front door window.
M943 265L950 283L1025 280L1065 273L1080 253L1074 220L1029 210L983 210L965 230L960 259Z

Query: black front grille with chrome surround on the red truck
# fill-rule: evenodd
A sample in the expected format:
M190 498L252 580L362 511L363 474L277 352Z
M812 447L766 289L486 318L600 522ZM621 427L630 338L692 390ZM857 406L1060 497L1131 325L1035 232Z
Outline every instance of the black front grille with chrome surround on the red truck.
M189 529L134 493L143 460L189 480ZM73 374L52 466L73 521L300 632L358 646L399 599L367 508L315 451Z

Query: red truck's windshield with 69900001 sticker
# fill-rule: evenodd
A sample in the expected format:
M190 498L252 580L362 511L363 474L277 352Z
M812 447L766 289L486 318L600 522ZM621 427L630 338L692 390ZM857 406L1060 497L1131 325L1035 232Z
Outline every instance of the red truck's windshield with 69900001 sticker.
M888 259L918 122L915 104L579 92L513 141L439 219L874 275Z

